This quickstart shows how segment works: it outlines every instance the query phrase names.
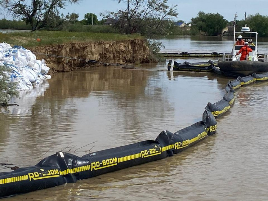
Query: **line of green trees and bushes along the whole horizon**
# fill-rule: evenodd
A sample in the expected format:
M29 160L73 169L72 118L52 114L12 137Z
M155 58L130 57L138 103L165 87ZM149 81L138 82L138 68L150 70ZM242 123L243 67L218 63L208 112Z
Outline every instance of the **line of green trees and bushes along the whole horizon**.
M79 0L39 0L27 5L24 1L0 0L0 6L8 10L13 20L1 19L0 29L57 30L78 32L112 32L122 34L140 34L146 37L155 35L221 35L233 21L227 21L219 13L200 11L191 19L191 28L174 26L172 17L177 17L177 5L169 6L168 0L118 0L124 9L116 12L101 13L101 20L94 13L86 13L78 20L78 13L60 14L59 9L68 3ZM90 27L85 25L103 25L107 18L113 19L113 25ZM179 20L179 22L184 22ZM245 24L260 37L268 37L268 16L248 15L246 20L237 20L237 30Z

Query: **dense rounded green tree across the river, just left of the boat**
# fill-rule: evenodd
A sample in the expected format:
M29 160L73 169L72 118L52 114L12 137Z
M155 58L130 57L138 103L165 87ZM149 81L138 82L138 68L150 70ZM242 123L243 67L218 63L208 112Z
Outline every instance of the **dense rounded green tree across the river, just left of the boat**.
M197 17L191 19L191 23L207 35L216 36L222 34L222 29L227 26L228 21L219 13L204 13L200 11Z

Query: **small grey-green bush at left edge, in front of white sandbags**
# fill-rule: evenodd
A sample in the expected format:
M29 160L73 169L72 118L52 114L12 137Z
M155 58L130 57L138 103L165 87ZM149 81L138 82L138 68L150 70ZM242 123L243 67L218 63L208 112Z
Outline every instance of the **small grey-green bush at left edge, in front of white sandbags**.
M17 84L10 82L7 71L10 69L0 65L0 105L2 106L8 105L12 96L18 97Z

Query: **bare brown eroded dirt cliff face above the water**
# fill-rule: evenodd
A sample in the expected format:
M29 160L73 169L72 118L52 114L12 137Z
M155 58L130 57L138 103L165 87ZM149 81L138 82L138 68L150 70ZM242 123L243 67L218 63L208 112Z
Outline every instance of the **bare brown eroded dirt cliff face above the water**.
M149 48L146 45L146 41L139 39L92 41L87 43L76 42L62 45L37 46L29 49L35 53L37 59L45 60L51 73L55 71L71 71L88 65L106 65L86 62L84 60L119 64L149 62ZM44 54L57 55L60 57L47 56ZM77 59L61 57L72 57Z

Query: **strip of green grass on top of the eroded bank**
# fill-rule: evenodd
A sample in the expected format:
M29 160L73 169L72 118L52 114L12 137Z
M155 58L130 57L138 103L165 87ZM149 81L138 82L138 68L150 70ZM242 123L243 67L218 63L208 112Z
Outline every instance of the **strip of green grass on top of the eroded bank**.
M40 38L38 42L36 39ZM89 32L64 32L64 31L37 31L37 32L12 32L0 33L0 43L6 42L13 45L28 47L64 44L70 42L89 41L116 41L129 39L144 39L140 35L121 35L116 33L89 33Z

